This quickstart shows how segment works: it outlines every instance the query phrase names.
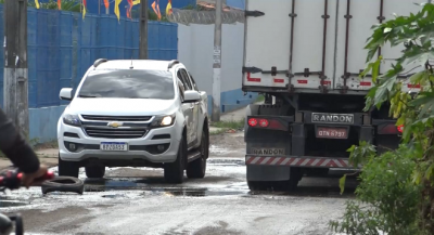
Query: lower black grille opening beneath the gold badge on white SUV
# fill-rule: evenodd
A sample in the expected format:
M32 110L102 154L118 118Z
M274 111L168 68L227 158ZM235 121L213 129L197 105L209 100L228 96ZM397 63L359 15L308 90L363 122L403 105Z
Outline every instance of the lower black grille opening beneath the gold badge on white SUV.
M85 127L85 131L91 138L105 139L138 139L146 134L144 128Z

